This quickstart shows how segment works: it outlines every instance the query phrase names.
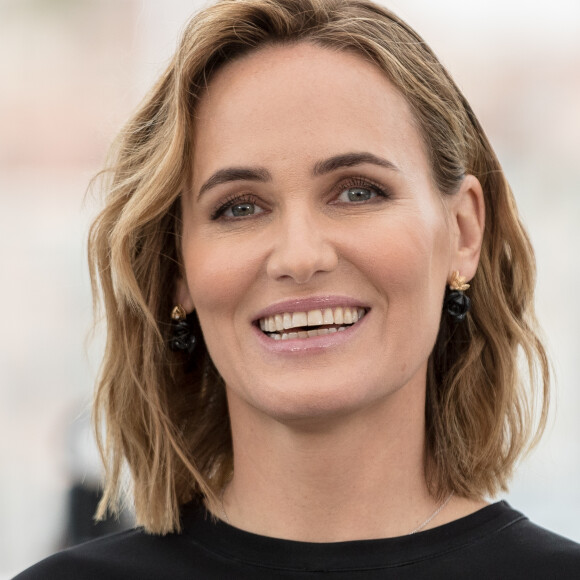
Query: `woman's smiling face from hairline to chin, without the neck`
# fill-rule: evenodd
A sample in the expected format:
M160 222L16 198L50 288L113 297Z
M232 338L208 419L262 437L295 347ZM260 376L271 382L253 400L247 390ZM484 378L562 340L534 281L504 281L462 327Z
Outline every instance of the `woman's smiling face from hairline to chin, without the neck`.
M178 299L230 398L292 420L424 389L457 235L385 76L263 49L213 78L194 141Z

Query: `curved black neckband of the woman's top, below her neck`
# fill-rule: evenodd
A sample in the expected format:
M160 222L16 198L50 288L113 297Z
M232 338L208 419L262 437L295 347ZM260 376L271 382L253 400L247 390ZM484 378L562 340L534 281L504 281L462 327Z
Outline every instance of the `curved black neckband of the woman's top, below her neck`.
M214 521L198 502L183 506L184 539L238 562L294 571L355 571L394 568L461 550L526 519L500 501L473 514L410 536L310 543L260 536Z

